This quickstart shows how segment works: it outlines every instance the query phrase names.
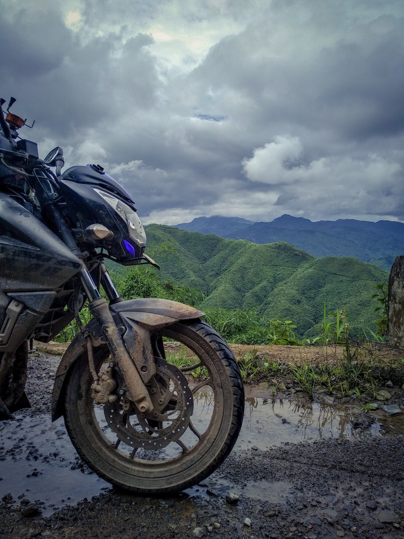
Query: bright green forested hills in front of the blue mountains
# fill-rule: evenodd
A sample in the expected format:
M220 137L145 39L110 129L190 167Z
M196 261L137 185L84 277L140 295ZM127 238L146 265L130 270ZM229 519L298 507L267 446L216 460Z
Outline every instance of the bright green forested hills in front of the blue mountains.
M211 307L256 308L272 319L292 320L308 335L328 311L346 307L352 327L371 327L378 304L373 287L385 281L381 269L349 257L315 258L284 242L259 245L148 225L148 244L167 244L172 253L161 277L199 289ZM158 258L158 257L157 257Z

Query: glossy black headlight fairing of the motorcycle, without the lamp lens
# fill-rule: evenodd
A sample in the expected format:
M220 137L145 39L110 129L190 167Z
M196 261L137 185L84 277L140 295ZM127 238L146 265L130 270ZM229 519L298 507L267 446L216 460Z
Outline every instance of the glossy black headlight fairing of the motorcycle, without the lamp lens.
M71 167L62 174L59 186L72 222L72 229L82 238L80 240L80 237L76 237L79 245L80 241L84 244L90 241L93 246L104 248L111 258L123 265L136 264L137 260L141 259L144 246L130 241L135 250L135 256L128 253L124 247L124 241L130 239L126 223L94 191L94 188L97 188L112 194L136 211L133 199L114 178L90 166ZM88 239L85 229L95 223L106 226L114 233L114 238L109 241Z

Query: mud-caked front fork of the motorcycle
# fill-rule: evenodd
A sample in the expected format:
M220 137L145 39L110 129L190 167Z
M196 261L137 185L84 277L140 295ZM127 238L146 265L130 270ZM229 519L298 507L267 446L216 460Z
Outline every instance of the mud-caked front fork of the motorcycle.
M95 320L99 323L103 335L105 336L108 348L113 357L113 362L121 371L126 383L130 399L136 404L138 410L142 413L148 413L153 409L153 405L139 374L137 367L131 358L121 334L114 322L112 314L109 311L108 302L101 298L100 292L94 284L94 281L87 268L80 270L79 278L87 294L89 301L88 308ZM110 280L105 267L101 265L101 279L103 288L106 290L111 301L118 301L119 294ZM88 337L90 338L90 337ZM89 357L90 358L90 357Z

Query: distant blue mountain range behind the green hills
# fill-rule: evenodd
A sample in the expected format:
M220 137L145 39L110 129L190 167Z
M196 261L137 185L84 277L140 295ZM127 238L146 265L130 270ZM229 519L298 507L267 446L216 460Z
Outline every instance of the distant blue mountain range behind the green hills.
M255 223L240 217L197 217L179 229L221 238L246 239L258 244L285 241L315 257L354 257L390 271L394 259L404 254L404 223L355 219L312 222L282 215L273 221Z

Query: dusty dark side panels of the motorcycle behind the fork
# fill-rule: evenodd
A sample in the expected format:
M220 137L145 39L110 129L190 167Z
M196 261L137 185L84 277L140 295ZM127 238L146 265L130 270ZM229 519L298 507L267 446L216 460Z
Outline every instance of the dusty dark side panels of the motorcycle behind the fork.
M82 261L39 219L0 192L0 352L13 353Z

